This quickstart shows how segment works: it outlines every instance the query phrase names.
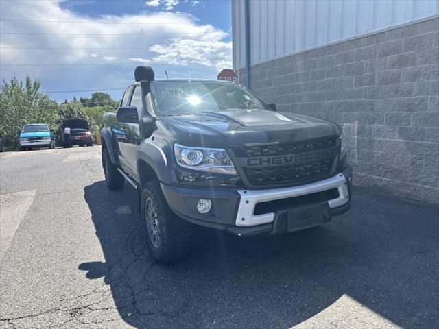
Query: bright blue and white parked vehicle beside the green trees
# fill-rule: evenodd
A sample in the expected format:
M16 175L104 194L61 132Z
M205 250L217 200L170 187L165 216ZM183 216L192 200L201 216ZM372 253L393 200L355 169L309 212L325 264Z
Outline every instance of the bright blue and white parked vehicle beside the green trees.
M49 126L45 123L23 125L18 134L21 151L41 147L55 148L54 130L49 129Z

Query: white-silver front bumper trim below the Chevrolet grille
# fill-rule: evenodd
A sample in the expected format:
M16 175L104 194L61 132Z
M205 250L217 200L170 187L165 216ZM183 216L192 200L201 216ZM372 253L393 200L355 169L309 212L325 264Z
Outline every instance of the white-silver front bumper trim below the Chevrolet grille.
M278 199L286 199L288 197L298 197L300 195L307 195L311 193L318 193L322 191L338 189L339 197L328 201L329 208L337 208L346 204L349 201L348 186L346 178L339 173L332 178L322 180L302 186L294 186L287 188L275 188L272 190L250 191L239 190L241 195L239 201L236 226L254 226L259 224L271 223L274 220L274 212L262 215L254 215L254 206L258 202L273 201Z

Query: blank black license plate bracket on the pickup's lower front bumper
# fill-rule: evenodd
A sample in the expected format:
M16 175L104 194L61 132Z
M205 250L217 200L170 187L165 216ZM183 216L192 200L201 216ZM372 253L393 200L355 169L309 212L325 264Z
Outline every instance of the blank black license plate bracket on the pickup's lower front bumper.
M312 228L331 220L328 202L309 204L288 210L287 230L295 232Z

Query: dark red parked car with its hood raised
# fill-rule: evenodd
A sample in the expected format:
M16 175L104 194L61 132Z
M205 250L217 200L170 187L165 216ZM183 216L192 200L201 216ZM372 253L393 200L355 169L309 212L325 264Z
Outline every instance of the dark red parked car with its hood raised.
M90 127L88 122L83 119L67 119L62 121L61 138L62 147L93 145L93 135L91 134Z

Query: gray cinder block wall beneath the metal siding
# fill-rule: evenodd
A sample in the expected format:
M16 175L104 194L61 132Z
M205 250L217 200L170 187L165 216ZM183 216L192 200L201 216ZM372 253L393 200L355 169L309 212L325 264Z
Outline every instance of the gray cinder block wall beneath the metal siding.
M438 64L434 18L256 64L251 90L340 123L355 184L439 204Z

